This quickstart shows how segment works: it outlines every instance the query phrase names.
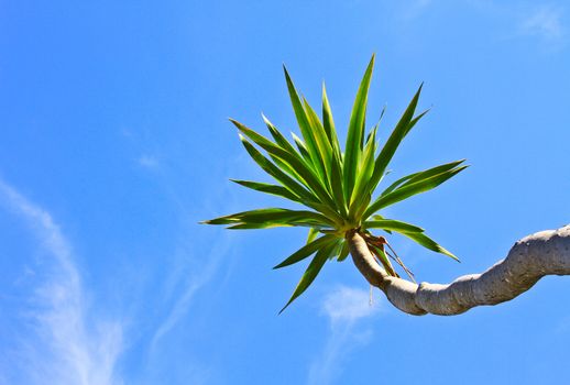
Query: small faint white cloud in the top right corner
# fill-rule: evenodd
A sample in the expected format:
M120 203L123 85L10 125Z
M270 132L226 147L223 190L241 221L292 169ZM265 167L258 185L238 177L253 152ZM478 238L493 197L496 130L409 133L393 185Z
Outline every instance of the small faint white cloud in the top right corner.
M538 35L553 41L563 37L562 11L550 6L540 6L533 10L520 23L523 33Z

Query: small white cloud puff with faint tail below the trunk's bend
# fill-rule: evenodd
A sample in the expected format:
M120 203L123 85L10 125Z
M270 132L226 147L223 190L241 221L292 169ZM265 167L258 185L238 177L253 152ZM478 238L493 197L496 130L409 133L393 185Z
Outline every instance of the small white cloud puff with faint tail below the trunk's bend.
M351 351L372 339L372 329L357 330L354 327L359 321L376 315L381 308L377 302L371 304L369 292L360 288L340 286L325 297L321 310L329 320L330 332L322 352L309 369L309 385L331 384L335 381Z

